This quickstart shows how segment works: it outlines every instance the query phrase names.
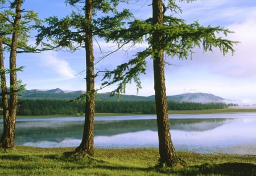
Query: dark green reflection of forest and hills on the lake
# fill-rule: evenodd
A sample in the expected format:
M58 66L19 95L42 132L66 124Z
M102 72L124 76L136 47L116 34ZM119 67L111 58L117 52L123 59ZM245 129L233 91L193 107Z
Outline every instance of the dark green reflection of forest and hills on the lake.
M172 130L205 131L224 125L231 119L171 119ZM81 139L83 121L26 121L16 123L16 144L23 141L62 141L65 138ZM96 121L95 136L113 136L138 131L157 131L156 120Z

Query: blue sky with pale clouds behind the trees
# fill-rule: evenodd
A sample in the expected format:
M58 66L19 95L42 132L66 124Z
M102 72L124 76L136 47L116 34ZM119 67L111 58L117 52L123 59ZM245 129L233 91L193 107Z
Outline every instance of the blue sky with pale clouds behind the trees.
M131 8L138 19L149 18L152 14L151 1L130 1L131 5L119 8ZM234 46L234 54L223 56L219 49L204 53L201 49L193 50L193 59L179 60L167 58L172 66L166 66L167 95L203 92L241 100L245 103L256 102L256 1L255 0L204 0L192 3L178 3L183 10L178 14L186 23L197 20L201 25L212 27L221 26L233 31L228 35L229 40L240 41ZM26 0L23 8L39 13L39 18L49 16L63 17L71 13L72 8L66 6L64 0ZM34 38L30 39L31 44ZM101 49L110 51L113 44L98 40ZM130 53L118 52L98 63L95 68L115 68L115 65L133 58L136 51L146 44L140 44ZM100 57L99 48L94 42L96 61ZM75 53L65 51L46 51L39 54L19 54L18 66L25 66L18 78L26 85L26 89L61 88L69 91L85 91L85 51ZM154 95L154 74L152 59L147 59L146 75L141 76L142 89L139 96ZM100 88L101 78L96 78L96 87ZM99 92L110 92L114 87L108 87ZM137 95L134 84L127 86L127 95Z

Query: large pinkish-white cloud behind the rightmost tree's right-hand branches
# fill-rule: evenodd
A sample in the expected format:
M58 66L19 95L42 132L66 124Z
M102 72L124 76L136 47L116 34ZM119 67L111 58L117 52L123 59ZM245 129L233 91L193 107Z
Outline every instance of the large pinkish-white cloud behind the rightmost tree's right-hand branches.
M173 60L176 65L172 70L191 70L195 74L199 71L205 71L207 75L218 75L225 78L251 80L256 79L256 28L255 19L247 19L245 22L230 24L225 28L234 31L229 33L228 38L232 41L241 43L234 45L234 55L228 53L223 56L219 49L214 49L213 52L203 53L201 49L195 49L193 61L177 61ZM191 77L191 76L190 76Z

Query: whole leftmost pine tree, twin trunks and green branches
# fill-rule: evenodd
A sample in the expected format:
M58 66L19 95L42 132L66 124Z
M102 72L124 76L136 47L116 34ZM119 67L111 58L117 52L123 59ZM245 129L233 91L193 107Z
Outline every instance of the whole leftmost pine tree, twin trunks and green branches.
M0 147L13 148L18 106L18 91L24 88L17 80L16 72L23 67L16 67L17 53L35 51L36 48L27 45L27 33L33 28L31 22L38 23L37 14L22 9L23 0L0 1L0 65L1 65L1 95L3 109L3 134ZM9 53L10 68L5 68L3 53ZM10 87L7 88L6 74L9 74ZM10 102L8 102L8 95Z

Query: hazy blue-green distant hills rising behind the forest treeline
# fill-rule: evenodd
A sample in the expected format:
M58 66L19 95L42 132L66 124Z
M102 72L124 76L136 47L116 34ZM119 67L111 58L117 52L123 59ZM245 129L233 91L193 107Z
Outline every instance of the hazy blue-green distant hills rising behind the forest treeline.
M22 98L64 98L64 99L75 99L79 97L84 91L73 91L67 92L59 88L51 89L48 91L40 91L38 89L26 90L19 92ZM110 97L110 93L97 93L96 100L109 100L117 101L117 95ZM120 101L154 101L155 96L136 96L136 95L122 95L119 98ZM181 95L167 96L168 101L187 101L187 102L221 102L224 98L214 96L209 93L185 93Z

